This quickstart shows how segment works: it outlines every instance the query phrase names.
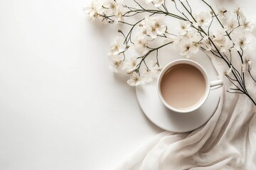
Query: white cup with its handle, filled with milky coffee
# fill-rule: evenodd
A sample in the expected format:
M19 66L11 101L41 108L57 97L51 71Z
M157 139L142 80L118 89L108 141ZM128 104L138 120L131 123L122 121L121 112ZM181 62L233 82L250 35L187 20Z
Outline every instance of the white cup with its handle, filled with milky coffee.
M164 105L179 113L195 111L203 105L213 86L223 81L209 81L206 70L192 60L176 60L161 71L158 92Z

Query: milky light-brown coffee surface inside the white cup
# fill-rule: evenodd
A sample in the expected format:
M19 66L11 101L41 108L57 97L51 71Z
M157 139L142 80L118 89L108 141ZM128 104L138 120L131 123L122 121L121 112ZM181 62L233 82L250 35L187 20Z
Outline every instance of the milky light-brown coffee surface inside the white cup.
M161 79L160 86L164 100L178 109L195 106L206 92L203 74L191 64L171 67Z

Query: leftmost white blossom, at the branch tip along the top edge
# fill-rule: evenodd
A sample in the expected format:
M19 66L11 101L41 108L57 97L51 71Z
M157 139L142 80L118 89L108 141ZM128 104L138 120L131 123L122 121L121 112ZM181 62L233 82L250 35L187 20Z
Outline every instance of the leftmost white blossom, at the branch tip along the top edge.
M103 13L102 3L94 0L89 4L89 6L83 8L83 11L85 11L85 13L87 13L92 20L95 20L95 18L98 18Z

